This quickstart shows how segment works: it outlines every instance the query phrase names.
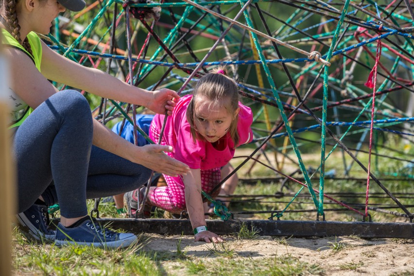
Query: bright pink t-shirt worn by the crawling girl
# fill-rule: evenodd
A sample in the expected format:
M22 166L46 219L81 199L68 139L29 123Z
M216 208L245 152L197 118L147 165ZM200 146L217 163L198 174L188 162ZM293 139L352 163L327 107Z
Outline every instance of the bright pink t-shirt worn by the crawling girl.
M219 140L220 144L224 143L224 145L220 145L222 150L216 149L213 144L207 141L196 139L194 142L190 133L190 123L186 117L187 106L190 104L191 98L192 95L187 95L178 101L173 115L167 118L162 141L173 146L173 157L189 165L191 169L210 170L223 167L234 156L236 149L234 142L229 133ZM240 102L239 107L237 131L240 141L237 146L249 143L253 139L253 132L250 128L253 122L252 110ZM152 127L161 130L164 117L164 115L156 114L151 123ZM155 141L151 131L150 138Z

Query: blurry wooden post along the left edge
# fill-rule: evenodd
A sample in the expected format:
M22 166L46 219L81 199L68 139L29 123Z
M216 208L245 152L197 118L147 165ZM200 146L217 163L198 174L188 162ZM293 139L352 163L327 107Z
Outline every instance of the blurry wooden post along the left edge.
M1 31L1 30L0 30ZM1 47L1 32L0 32ZM15 213L15 170L11 157L10 132L7 131L9 118L5 103L8 66L0 48L0 275L11 275L11 223Z

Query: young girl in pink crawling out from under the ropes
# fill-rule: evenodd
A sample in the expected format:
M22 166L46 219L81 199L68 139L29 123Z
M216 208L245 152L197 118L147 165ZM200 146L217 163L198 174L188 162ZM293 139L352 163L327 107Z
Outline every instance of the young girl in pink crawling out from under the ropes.
M164 117L157 114L151 122L149 136L154 141L159 139ZM223 69L203 76L193 95L179 100L161 139L162 145L173 147L167 154L187 164L190 172L178 177L164 175L167 186L151 187L146 204L172 213L187 209L195 241L222 242L207 230L201 190L213 190L221 181L221 167L233 158L236 147L252 140L252 121L251 109L240 103L236 82ZM143 190L125 194L130 216L135 216ZM219 192L217 189L211 196Z

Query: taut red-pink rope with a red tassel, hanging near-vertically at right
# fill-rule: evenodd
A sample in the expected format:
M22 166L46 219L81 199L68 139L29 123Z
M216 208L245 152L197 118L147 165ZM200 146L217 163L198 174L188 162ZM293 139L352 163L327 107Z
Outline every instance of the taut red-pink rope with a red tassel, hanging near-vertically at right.
M380 30L382 26L380 27ZM366 196L365 196L365 217L368 216L368 197L369 197L369 174L371 172L371 152L372 152L372 132L374 126L374 112L375 112L375 89L377 83L377 69L381 57L381 39L377 40L377 57L375 59L374 67L369 73L368 81L365 83L365 86L373 88L372 94L372 108L371 108L371 127L369 133L369 154L368 154L368 175L366 179Z

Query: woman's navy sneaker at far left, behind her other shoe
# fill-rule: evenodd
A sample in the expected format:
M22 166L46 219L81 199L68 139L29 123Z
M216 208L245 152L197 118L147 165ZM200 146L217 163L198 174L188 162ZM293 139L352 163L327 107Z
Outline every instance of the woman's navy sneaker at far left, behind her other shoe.
M34 204L26 211L16 215L23 232L36 241L54 240L56 231L49 228L49 214L46 205Z

